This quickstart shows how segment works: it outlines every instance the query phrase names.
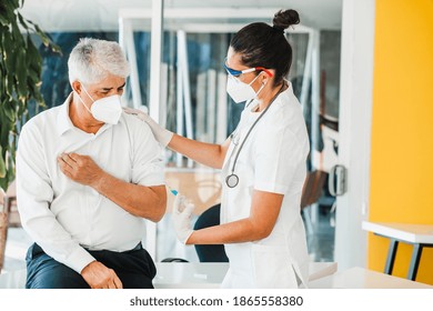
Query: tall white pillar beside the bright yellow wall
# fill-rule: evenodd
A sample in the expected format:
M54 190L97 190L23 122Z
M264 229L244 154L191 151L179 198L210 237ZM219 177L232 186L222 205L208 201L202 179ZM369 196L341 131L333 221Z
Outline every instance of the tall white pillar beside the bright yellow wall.
M366 264L370 136L373 92L374 0L344 0L340 82L339 161L348 168L348 192L336 200L339 270Z

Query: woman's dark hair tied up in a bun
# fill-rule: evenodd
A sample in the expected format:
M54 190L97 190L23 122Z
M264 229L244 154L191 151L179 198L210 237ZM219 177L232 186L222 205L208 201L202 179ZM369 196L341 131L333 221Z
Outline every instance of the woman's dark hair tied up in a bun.
M299 22L295 10L280 10L274 14L272 27L264 22L250 23L234 34L230 47L241 54L244 66L274 69L274 86L278 86L292 66L292 47L284 29Z

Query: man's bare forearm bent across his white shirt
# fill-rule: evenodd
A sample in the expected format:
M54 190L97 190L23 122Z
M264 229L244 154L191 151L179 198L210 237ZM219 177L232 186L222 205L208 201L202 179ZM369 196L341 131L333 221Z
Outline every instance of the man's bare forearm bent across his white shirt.
M102 172L101 177L90 185L131 214L158 222L165 212L167 192L164 185L133 184L107 172Z

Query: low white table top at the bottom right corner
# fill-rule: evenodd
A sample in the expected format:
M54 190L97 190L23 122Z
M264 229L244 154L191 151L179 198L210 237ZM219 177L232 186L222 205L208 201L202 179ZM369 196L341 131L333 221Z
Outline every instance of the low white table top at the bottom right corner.
M351 268L310 282L311 289L433 289L432 285L364 268Z

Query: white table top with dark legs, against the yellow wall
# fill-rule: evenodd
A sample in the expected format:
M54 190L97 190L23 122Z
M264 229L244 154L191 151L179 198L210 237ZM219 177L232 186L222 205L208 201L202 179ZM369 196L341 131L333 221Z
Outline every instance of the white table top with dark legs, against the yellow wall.
M433 225L363 221L362 229L411 243L433 244Z

